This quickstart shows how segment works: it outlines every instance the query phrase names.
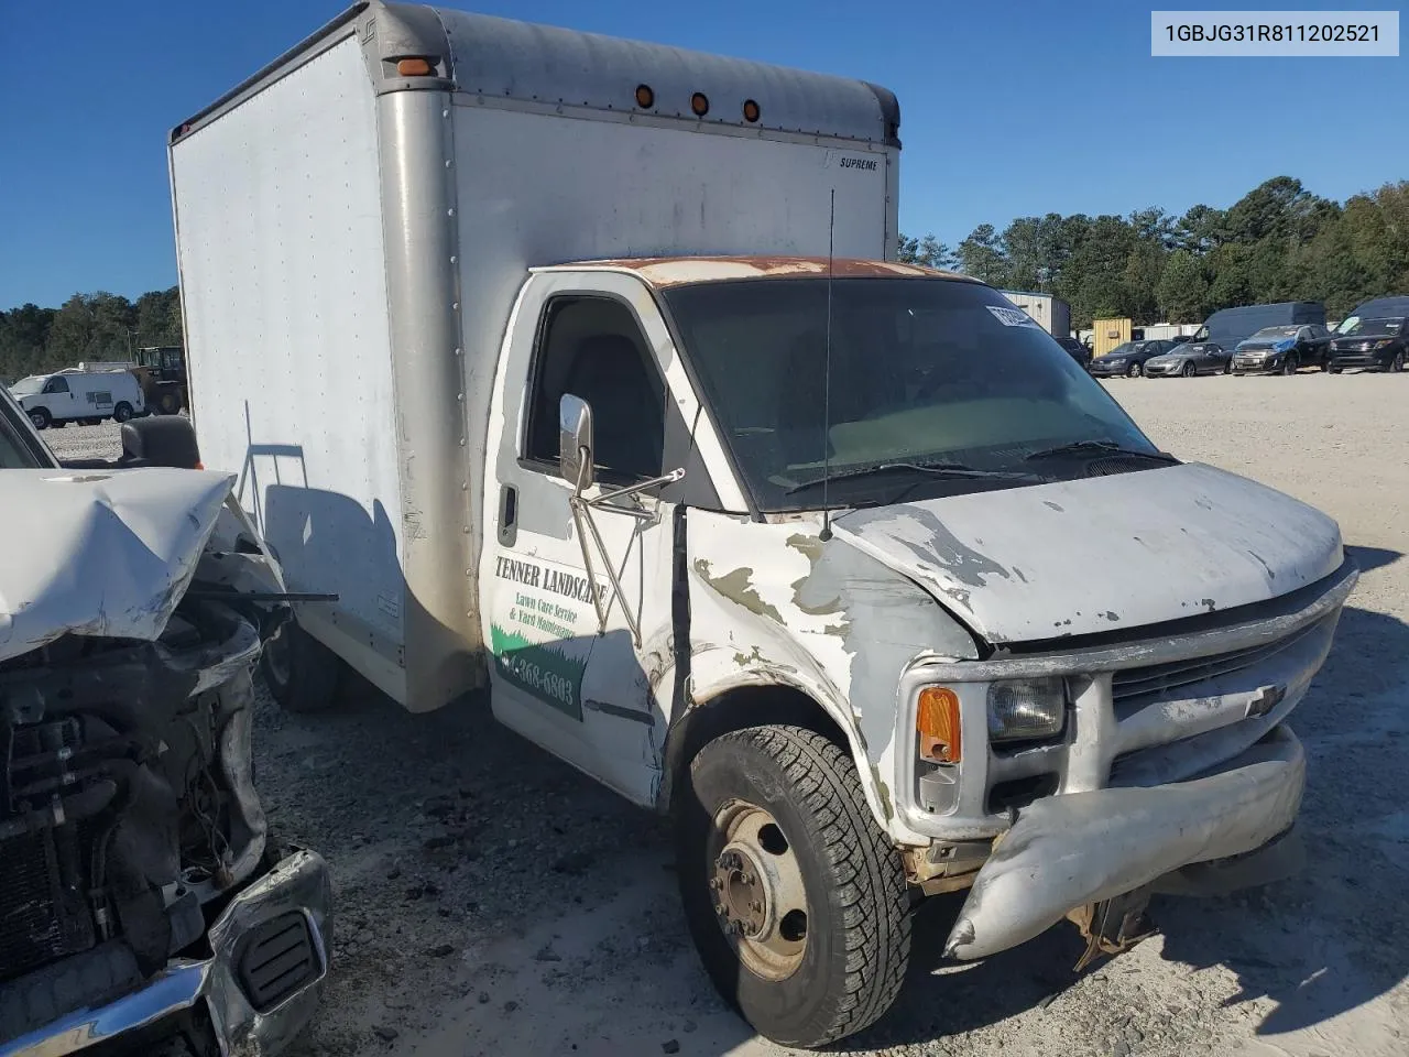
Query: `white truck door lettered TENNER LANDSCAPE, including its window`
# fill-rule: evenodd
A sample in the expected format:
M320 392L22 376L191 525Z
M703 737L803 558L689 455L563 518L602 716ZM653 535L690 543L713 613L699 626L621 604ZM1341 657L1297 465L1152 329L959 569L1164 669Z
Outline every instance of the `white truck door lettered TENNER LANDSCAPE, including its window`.
M559 471L561 397L592 407L596 482L583 499L666 475L693 448L650 293L626 275L590 282L600 289L581 289L581 275L534 276L510 324L490 413L482 624L495 715L650 803L671 709L672 519L689 493L683 481L658 485L575 514ZM713 495L703 469L686 478Z

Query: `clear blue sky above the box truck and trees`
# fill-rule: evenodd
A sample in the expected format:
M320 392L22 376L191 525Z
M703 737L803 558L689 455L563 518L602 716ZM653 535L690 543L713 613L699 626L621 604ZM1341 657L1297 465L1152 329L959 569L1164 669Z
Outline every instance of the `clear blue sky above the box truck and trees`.
M448 3L882 83L900 227L951 245L1016 216L1227 206L1281 173L1340 200L1409 178L1405 58L1154 59L1150 4ZM6 4L0 307L173 285L166 130L342 6Z

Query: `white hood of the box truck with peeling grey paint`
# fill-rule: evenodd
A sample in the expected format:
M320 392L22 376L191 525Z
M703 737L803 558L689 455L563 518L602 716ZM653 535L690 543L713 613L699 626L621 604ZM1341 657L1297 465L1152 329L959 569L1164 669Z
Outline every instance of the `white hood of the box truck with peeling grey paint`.
M1264 602L1344 560L1330 517L1202 464L854 510L833 526L995 645Z

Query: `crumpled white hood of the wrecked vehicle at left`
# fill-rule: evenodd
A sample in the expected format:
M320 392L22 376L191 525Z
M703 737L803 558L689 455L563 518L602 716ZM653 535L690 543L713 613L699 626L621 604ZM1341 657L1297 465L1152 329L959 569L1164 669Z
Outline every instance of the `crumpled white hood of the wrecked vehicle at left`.
M194 469L0 471L0 661L65 634L161 636L232 483Z

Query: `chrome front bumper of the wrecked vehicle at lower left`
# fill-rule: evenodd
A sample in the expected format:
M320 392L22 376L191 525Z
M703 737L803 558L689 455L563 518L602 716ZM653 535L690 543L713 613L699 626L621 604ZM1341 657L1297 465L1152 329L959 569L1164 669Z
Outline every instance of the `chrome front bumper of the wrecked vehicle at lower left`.
M256 930L279 919L306 929L314 964L306 979L268 1005L251 996L259 984L251 978L249 957ZM113 1053L124 1034L141 1032L147 1037L162 1022L201 1006L221 1054L272 1057L313 1018L328 972L331 930L327 863L313 851L296 851L234 896L210 926L209 958L173 958L138 991L0 1044L0 1057L61 1057L94 1046Z

